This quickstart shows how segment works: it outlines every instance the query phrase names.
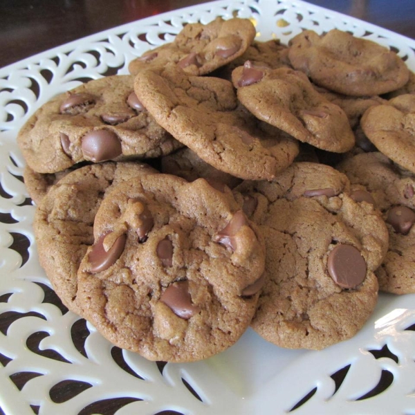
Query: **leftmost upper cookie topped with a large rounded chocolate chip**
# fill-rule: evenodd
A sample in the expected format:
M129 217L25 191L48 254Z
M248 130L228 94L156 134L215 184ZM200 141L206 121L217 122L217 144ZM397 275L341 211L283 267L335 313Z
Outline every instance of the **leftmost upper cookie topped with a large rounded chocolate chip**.
M29 118L17 143L38 173L85 160L158 157L182 147L142 107L131 75L92 80L58 95Z

